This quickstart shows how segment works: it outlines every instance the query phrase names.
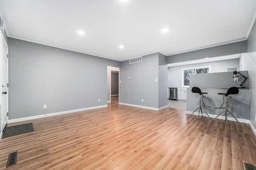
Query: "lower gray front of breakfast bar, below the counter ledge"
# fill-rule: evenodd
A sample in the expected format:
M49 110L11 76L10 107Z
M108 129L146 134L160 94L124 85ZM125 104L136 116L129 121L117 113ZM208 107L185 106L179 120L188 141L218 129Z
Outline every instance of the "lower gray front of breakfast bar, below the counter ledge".
M214 107L220 107L223 102L223 95L218 93L226 93L228 88L200 88L202 92L207 92L204 94L203 102L206 106L204 109L210 115L210 117L216 117L222 109L216 109ZM192 93L191 88L187 89L187 106L186 113L192 113L199 105L199 94ZM232 98L230 98L232 97ZM233 115L238 119L250 119L250 90L249 89L239 89L238 94L230 95L228 97L228 108L233 113ZM222 107L225 107L225 103ZM198 115L198 111L194 113ZM222 118L225 114L223 113ZM220 118L220 116L218 118ZM228 114L228 120L234 120L232 115ZM239 121L239 120L238 120ZM240 120L241 121L241 120Z

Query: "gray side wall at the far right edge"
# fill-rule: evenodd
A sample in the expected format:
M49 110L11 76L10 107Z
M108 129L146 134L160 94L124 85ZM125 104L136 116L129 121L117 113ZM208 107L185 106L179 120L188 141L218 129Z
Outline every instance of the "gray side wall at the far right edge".
M256 24L248 37L248 55L245 56L245 66L250 80L250 121L256 129Z

